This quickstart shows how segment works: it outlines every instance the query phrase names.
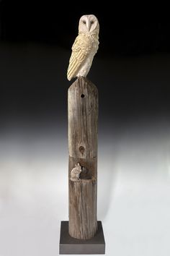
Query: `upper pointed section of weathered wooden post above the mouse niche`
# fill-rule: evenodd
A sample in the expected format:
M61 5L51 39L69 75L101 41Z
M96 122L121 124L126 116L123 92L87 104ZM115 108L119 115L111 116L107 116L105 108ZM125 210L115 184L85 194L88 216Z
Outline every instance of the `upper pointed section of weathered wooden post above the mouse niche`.
M98 90L79 77L68 89L68 150L77 158L97 156Z

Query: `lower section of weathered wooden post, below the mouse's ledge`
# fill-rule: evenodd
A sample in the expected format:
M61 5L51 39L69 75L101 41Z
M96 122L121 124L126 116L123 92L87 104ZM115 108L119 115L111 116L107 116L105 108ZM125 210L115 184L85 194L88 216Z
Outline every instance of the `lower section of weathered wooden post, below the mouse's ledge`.
M69 181L69 192L69 234L76 239L90 239L97 231L96 180Z

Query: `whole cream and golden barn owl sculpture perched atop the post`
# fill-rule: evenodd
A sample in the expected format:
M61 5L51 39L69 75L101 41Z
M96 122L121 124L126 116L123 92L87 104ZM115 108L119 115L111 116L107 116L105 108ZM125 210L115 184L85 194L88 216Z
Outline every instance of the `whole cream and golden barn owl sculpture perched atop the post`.
M79 20L79 35L72 46L67 78L86 77L99 47L99 22L93 14Z

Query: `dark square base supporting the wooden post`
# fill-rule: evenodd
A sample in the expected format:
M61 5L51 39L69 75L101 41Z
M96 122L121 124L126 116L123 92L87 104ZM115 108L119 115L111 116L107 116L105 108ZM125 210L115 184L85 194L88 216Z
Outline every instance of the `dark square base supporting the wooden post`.
M60 255L104 255L105 242L102 221L97 221L98 230L88 240L75 239L68 234L68 221L61 221Z

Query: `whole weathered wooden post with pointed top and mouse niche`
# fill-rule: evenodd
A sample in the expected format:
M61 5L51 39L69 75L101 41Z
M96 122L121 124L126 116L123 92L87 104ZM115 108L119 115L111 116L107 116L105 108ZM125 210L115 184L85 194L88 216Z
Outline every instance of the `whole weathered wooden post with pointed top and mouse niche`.
M97 87L79 77L68 88L68 231L76 239L97 232L97 121Z

